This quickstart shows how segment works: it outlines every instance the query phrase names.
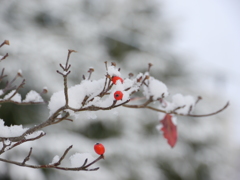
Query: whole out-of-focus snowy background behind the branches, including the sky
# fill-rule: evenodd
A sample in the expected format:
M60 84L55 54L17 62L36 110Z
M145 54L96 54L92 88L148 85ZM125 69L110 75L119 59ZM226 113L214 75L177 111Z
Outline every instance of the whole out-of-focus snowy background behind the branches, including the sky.
M196 113L208 113L230 100L224 112L207 118L178 118L178 142L172 149L156 130L150 110L117 108L81 112L74 122L47 127L47 135L2 157L22 161L33 147L31 163L48 164L73 144L70 154L106 147L96 172L35 170L0 162L1 180L237 180L239 174L240 4L237 0L0 0L0 41L10 46L1 62L9 79L22 69L24 97L33 89L63 88L56 73L68 49L69 86L81 82L89 67L93 79L104 77L105 61L116 62L123 77L147 70L163 81L170 94L202 96ZM3 86L3 84L1 84ZM46 105L4 104L6 125L33 126L48 118ZM97 156L96 156L97 157ZM68 162L65 162L68 165Z

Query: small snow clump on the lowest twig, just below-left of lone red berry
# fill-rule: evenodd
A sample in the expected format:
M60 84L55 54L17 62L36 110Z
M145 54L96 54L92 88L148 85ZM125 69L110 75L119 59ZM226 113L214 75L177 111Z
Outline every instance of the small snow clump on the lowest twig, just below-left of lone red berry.
M86 159L88 160L88 163L94 160L93 156L90 153L75 153L70 156L69 159L72 167L82 166ZM91 168L93 167L91 166Z

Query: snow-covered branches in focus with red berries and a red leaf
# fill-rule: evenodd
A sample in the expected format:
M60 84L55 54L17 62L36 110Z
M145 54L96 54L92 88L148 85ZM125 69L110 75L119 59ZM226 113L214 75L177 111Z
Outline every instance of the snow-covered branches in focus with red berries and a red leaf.
M9 41L4 41L0 47L5 44L9 44ZM163 135L169 145L174 147L177 142L177 116L212 116L222 112L229 105L229 103L227 103L223 108L215 112L194 114L193 110L196 109L196 105L201 99L200 97L194 98L189 95L183 96L182 94L175 94L172 96L172 101L167 101L165 98L169 96L169 90L162 81L151 76L150 69L152 64L150 63L145 73L139 73L136 76L129 73L128 77L123 78L120 68L117 68L115 63L109 64L105 62L106 72L100 79L91 79L92 73L95 70L93 67L90 67L87 71L88 75L83 75L83 80L80 84L68 87L68 75L71 73L69 59L73 52L76 51L68 50L65 64L59 64L61 70L57 70L57 73L63 78L63 90L55 92L51 96L48 103L49 116L44 122L30 128L23 128L21 125L6 127L4 126L4 121L0 120L0 141L2 143L0 154L12 150L25 142L40 139L46 135L42 131L45 127L58 124L62 121L72 122L73 119L71 117L74 117L72 115L76 112L107 111L119 106L135 109L150 109L157 112L160 120L160 125L157 126L157 129L163 131ZM2 57L1 60L5 58ZM6 77L3 68L0 81ZM12 81L7 81L5 88L0 91L0 97L2 97L0 104L6 102L19 105L45 104L41 95L34 90L27 93L25 99L22 100L19 89L24 86L25 79L23 79L19 85L14 85L15 80L22 77L22 71L19 70ZM42 93L46 92L47 88L44 88ZM132 95L136 92L141 92L142 96L132 98ZM144 102L135 104L138 100L141 100L141 102L144 100ZM97 145L99 146L100 144ZM99 148L101 147L103 146L99 146ZM65 159L71 148L72 146L68 147L61 157L56 155L52 162L47 165L32 165L27 163L32 155L32 148L30 148L28 155L22 162L2 158L0 158L0 161L29 168L54 168L67 171L93 171L99 169L90 168L90 166L92 167L97 161L104 159L103 154L99 153L102 152L101 149L96 151L100 156L95 160L93 159L90 163L88 163L89 157L86 157L81 165L77 164L77 167L61 166L62 160ZM105 152L105 150L103 152ZM79 160L82 157L84 157L83 154L72 155L70 157L71 164L76 165L76 159Z

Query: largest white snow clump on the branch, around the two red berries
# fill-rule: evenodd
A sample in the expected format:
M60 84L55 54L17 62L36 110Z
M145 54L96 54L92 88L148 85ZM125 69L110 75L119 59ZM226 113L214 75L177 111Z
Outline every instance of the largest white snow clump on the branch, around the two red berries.
M113 67L113 66L110 66ZM111 73L116 73L116 68L110 68ZM117 71L118 72L118 71ZM120 81L117 81L116 85L112 87L112 89L109 91L110 94L106 97L100 98L97 97L99 95L103 88L105 83L105 78L99 79L99 80L83 80L81 84L72 86L68 89L68 100L69 100L69 106L71 108L79 109L81 107L90 107L90 106L96 106L96 107L110 107L114 102L114 92L116 91L122 91L123 98L122 100L117 101L117 104L120 104L122 102L125 102L129 99L129 93L132 91L124 91L124 88L130 84L130 81L126 81L127 84L122 84ZM136 87L134 88L134 90ZM88 99L92 99L89 102L86 102L86 104L83 106L82 102L84 98L88 96ZM48 108L50 110L50 115L52 115L54 112L57 111L57 109L61 108L65 105L65 96L64 91L56 92L52 95L50 98L50 102L48 104ZM69 111L72 113L71 111ZM95 118L95 116L94 116Z

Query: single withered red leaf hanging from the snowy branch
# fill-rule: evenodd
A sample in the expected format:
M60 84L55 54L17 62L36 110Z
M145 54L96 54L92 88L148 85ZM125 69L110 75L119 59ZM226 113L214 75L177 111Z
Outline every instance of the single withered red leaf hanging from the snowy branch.
M173 148L177 142L177 126L173 122L173 116L171 114L166 114L162 120L161 131L163 131L164 138L167 139L168 144Z

